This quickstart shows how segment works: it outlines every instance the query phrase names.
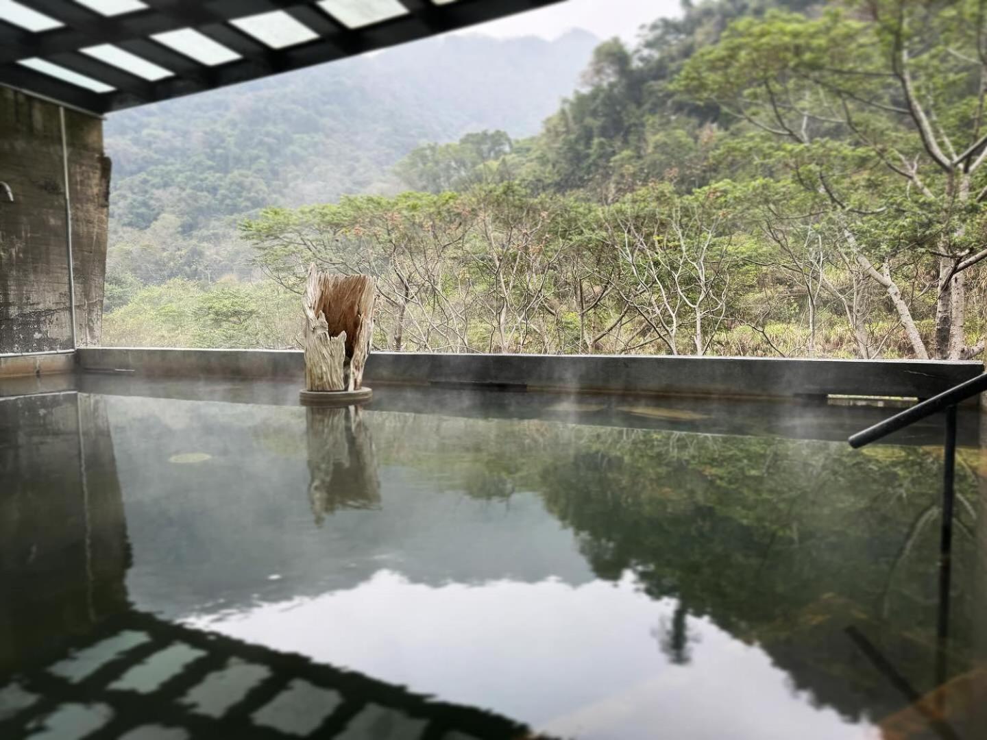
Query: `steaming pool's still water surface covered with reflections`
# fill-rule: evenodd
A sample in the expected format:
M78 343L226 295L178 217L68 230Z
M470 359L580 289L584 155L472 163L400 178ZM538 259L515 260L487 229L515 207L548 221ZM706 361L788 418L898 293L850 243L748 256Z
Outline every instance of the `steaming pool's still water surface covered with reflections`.
M45 666L142 634L84 680L111 686L86 715L105 733L139 701L112 688L124 663L186 707L163 726L203 736L203 716L290 734L267 721L278 702L325 709L296 730L353 737L987 732L978 451L960 455L943 681L939 449L588 426L565 408L0 402L0 575L18 595L0 606L0 730L33 711L4 708L11 686L40 694ZM257 686L202 708L240 676Z

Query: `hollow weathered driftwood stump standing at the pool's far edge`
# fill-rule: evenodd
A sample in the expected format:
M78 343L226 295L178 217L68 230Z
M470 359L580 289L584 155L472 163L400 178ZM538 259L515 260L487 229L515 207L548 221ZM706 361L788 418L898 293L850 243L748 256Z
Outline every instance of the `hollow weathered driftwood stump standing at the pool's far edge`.
M370 275L334 275L309 265L304 298L306 391L362 388L375 296Z

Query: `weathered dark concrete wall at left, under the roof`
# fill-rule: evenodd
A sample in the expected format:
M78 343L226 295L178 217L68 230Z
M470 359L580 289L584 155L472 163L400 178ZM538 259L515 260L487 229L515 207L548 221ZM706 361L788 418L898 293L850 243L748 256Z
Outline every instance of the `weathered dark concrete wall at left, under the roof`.
M110 212L103 121L65 111L77 341L98 344ZM0 353L71 349L58 106L0 87Z

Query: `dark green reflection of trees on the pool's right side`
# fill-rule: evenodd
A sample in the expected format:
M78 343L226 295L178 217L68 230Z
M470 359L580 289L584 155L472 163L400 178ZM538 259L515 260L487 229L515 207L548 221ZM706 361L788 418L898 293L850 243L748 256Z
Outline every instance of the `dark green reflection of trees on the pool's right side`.
M906 700L847 636L855 627L919 695L937 686L938 528L916 522L938 517L941 447L431 416L428 434L409 435L372 417L388 464L483 498L537 491L597 577L630 574L651 598L674 599L651 630L674 664L700 650L689 620L709 619L766 650L794 690L879 719ZM975 484L960 465L964 500ZM957 509L953 676L969 670L977 633L976 523L971 506Z

